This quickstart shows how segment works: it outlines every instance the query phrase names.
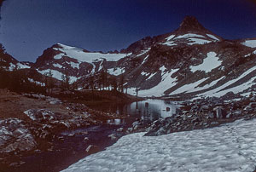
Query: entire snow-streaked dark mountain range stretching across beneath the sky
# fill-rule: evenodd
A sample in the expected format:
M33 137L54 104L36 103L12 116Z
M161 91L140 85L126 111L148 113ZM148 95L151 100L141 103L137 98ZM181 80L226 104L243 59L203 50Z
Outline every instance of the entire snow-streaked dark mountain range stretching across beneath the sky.
M1 59L5 71L24 71L28 81L49 88L113 89L145 97L238 96L254 90L256 38L226 40L187 16L177 30L144 37L120 52L57 43L35 63L4 51Z

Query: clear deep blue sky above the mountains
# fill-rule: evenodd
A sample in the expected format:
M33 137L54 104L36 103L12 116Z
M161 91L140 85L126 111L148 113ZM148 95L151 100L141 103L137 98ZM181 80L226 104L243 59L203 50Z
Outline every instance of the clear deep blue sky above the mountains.
M172 32L185 15L224 38L256 37L253 0L7 0L1 15L0 43L17 60L35 61L54 43L124 49Z

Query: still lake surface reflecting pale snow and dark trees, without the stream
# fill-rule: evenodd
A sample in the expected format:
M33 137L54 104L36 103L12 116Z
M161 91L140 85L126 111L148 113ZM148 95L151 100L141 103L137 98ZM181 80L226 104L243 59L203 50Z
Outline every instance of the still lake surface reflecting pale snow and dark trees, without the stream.
M128 115L134 121L134 118L141 118L145 122L152 122L159 118L171 117L176 113L177 105L173 104L172 101L166 100L143 100L133 102L131 104L105 104L102 106L92 106L97 110L103 112L114 112L120 115ZM108 120L110 124L123 124L129 123L129 119L113 119Z

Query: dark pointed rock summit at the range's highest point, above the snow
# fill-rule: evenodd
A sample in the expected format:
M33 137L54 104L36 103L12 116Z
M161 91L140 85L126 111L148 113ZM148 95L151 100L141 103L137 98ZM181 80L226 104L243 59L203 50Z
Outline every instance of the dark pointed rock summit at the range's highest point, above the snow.
M179 32L201 32L207 29L194 16L186 16L177 29Z

